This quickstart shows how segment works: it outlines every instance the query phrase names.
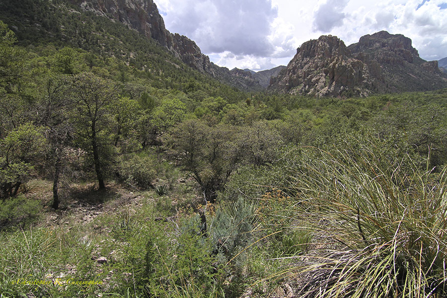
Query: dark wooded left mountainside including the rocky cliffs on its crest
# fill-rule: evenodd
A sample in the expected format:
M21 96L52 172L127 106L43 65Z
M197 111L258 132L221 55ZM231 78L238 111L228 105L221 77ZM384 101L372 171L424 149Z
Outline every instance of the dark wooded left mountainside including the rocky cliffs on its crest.
M147 64L152 60L161 64L172 62L170 67L155 67L157 71L172 66L186 70L178 67L181 64L177 60L181 60L192 69L239 89L262 89L256 81L233 76L227 68L210 62L194 41L166 30L152 0L42 0L39 4L33 0L18 4L1 0L0 4L3 7L0 19L15 31L22 45L49 42L71 45L101 55L123 56L140 69L149 67ZM120 23L133 32L125 32ZM124 45L120 46L121 43ZM143 44L146 46L142 47Z

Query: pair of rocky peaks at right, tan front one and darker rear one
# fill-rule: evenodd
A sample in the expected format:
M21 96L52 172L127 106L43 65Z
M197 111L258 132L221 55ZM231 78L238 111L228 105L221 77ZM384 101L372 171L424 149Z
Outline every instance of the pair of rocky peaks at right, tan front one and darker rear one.
M305 42L269 89L315 96L368 95L447 87L438 63L419 57L411 40L386 31L349 47L336 36Z

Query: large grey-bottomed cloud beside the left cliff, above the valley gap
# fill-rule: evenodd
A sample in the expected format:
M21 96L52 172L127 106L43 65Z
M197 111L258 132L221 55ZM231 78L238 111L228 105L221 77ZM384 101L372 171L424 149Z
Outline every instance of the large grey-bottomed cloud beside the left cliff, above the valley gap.
M168 29L196 41L204 53L266 57L278 16L271 0L170 0L159 4Z

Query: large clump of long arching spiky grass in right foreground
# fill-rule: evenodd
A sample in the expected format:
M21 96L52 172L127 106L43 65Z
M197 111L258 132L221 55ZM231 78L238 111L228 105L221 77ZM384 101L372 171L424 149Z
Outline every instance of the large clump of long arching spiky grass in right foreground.
M447 168L408 155L388 168L374 150L318 155L292 187L320 239L299 265L299 297L447 297Z

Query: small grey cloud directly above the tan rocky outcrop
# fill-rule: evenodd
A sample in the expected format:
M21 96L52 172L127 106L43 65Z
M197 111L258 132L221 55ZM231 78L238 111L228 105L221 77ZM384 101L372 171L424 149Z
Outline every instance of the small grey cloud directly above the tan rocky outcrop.
M322 3L314 13L314 30L326 33L343 25L347 15L342 11L348 2L349 0L327 0Z

